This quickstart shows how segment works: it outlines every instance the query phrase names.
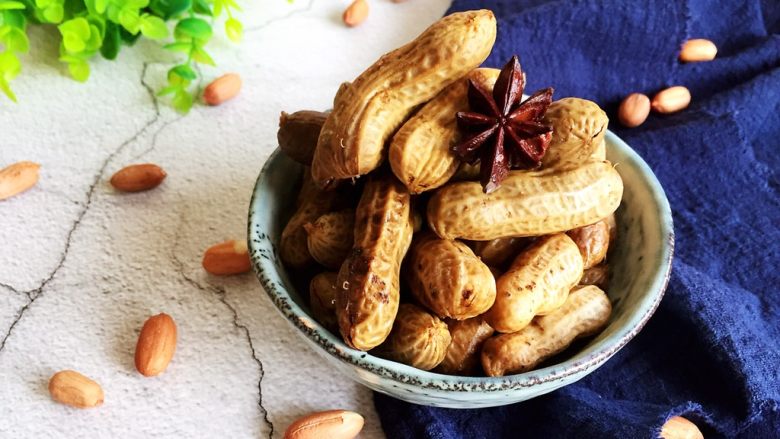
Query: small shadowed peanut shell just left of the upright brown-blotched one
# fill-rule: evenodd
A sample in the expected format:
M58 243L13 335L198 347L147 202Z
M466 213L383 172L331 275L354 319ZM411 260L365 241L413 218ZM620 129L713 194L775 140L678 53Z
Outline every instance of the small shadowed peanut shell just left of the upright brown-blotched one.
M308 234L307 246L314 260L325 268L338 270L352 248L355 209L326 213L303 228Z

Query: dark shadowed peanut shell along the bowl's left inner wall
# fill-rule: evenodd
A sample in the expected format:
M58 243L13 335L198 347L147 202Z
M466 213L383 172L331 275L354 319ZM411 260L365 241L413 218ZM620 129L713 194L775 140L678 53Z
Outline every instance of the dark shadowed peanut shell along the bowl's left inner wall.
M298 195L298 210L282 230L279 255L292 268L304 268L314 262L309 253L308 236L304 225L329 212L338 198L336 191L321 191L304 171L303 185Z

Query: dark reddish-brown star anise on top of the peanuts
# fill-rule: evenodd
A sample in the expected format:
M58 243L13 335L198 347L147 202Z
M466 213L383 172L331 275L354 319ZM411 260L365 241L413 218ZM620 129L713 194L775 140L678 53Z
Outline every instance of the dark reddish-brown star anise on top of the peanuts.
M501 69L491 94L469 80L471 111L458 112L458 126L468 134L452 150L471 164L480 162L480 182L484 192L496 190L510 168L535 168L552 137L552 126L542 121L552 102L552 88L534 93L520 102L525 74L517 56Z

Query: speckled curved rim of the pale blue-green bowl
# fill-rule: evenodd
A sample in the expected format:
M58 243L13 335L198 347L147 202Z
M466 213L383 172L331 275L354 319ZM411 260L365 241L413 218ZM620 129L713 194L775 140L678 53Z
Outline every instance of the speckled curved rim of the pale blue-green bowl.
M598 366L608 360L625 346L645 326L653 315L663 298L664 291L669 282L674 255L674 227L671 207L666 194L657 177L649 165L628 144L611 131L607 131L605 141L615 145L627 157L641 174L648 186L650 186L655 204L659 207L659 229L661 237L666 239L661 243L661 264L653 273L650 282L652 294L647 294L639 303L641 313L632 315L625 324L610 338L599 340L589 346L590 353L580 359L567 359L544 368L535 369L514 375L503 377L468 377L456 375L444 375L431 371L416 369L405 364L386 360L369 354L368 352L352 349L347 346L341 337L332 334L321 324L314 320L301 306L295 303L285 287L280 287L271 281L271 276L280 277L278 267L271 258L262 257L264 250L258 245L262 239L270 239L268 231L260 231L253 227L265 209L257 209L261 201L267 196L260 193L259 189L265 183L270 164L277 155L281 154L279 148L275 149L263 165L252 192L249 206L249 222L247 242L250 250L252 265L257 278L268 294L277 310L292 323L303 336L324 349L336 359L364 369L370 373L381 376L401 384L411 384L428 389L443 392L469 392L469 391L506 391L509 389L527 388L538 384L557 381L569 376L577 376L594 366ZM261 236L262 235L262 236ZM276 245L271 241L276 251ZM614 341L616 339L616 341Z

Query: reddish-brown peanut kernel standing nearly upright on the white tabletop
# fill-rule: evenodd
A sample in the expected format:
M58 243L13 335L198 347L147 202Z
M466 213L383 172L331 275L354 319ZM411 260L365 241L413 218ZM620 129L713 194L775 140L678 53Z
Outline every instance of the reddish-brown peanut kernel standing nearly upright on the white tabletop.
M135 368L151 377L165 371L176 352L176 323L168 314L149 317L135 346Z

